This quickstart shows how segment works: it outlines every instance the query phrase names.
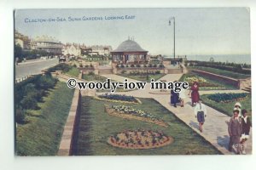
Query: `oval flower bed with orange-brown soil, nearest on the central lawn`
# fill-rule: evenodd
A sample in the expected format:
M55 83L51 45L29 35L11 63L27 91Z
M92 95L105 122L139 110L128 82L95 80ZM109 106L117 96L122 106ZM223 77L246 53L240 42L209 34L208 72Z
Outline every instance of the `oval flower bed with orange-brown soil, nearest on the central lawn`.
M151 130L125 130L108 138L108 144L124 149L150 149L172 144L172 137Z

